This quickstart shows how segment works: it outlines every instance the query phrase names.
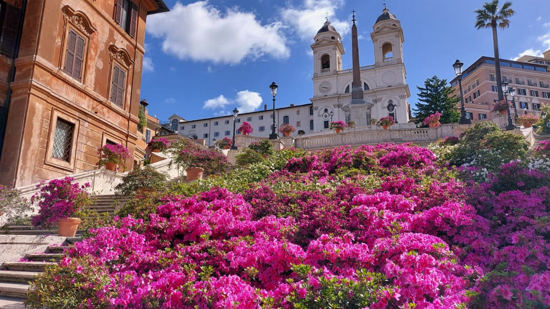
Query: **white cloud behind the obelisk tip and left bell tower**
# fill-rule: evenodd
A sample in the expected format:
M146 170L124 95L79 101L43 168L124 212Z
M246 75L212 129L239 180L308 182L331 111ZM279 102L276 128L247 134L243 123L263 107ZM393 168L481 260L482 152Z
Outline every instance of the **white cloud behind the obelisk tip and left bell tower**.
M350 22L335 18L334 11L344 6L344 0L304 0L298 7L287 7L281 10L282 19L293 26L303 41L312 41L317 31L324 24L326 12L328 21L341 36L348 34Z

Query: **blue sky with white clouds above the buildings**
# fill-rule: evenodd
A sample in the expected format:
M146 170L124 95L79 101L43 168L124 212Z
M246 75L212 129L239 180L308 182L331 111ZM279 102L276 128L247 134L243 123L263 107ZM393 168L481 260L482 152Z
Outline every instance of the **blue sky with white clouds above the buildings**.
M382 0L164 0L171 12L147 19L141 96L161 120L250 112L272 106L269 85L279 85L277 107L305 104L313 93L313 36L324 13L342 35L351 68L351 10L355 9L361 65L373 64L370 32ZM501 2L503 2L501 0ZM480 0L387 0L401 21L409 102L416 85L433 75L451 80L452 64L493 56L491 30L476 30ZM516 0L511 25L499 31L500 57L550 49L550 1Z

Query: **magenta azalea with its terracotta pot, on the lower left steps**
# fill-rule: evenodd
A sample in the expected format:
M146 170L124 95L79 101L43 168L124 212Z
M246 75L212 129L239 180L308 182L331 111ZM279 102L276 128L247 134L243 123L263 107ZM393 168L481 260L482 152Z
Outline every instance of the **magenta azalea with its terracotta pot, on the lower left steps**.
M45 185L42 181L36 186L40 189L31 197L31 202L38 205L38 216L32 218L34 227L49 229L57 224L59 236L73 237L81 222L81 214L86 213L92 203L90 195L85 191L89 183L79 185L69 176L63 179L53 179Z

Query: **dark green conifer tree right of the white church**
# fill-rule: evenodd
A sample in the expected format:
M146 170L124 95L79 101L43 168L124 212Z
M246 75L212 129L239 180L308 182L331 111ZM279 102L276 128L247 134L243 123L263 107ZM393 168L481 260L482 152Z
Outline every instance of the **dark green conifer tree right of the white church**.
M460 97L453 95L453 88L447 86L446 79L439 79L436 75L426 79L425 88L416 86L420 93L419 101L416 103L414 111L415 123L423 125L424 119L436 112L442 113L440 123L458 123L460 120L459 108L456 105L460 102Z

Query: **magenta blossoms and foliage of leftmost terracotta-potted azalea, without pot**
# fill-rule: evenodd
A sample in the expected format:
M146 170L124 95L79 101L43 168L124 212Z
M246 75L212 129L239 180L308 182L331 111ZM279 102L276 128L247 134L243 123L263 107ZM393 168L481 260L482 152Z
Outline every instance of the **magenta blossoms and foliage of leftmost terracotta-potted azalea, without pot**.
M34 227L50 228L56 225L59 219L69 218L87 201L89 183L79 185L73 183L74 178L69 176L63 179L53 179L47 184L42 181L36 186L40 189L31 197L31 202L38 205L38 215L32 218Z

